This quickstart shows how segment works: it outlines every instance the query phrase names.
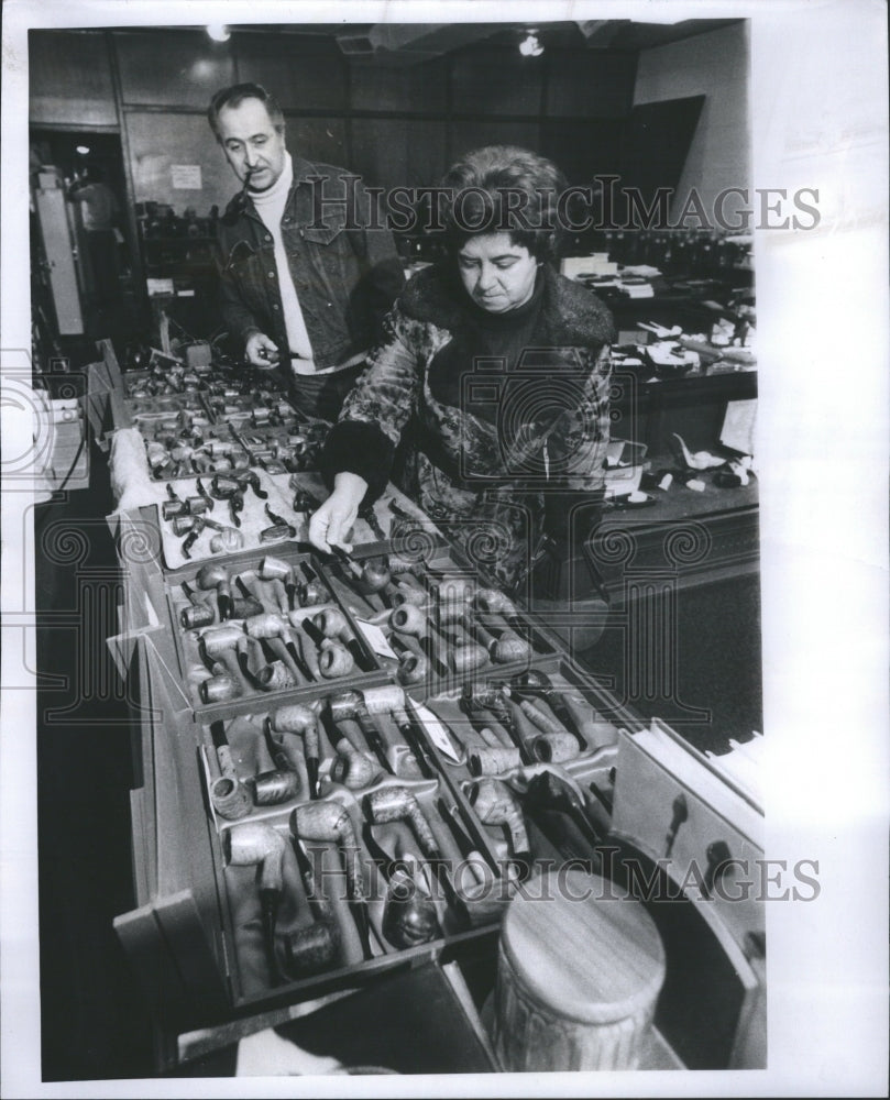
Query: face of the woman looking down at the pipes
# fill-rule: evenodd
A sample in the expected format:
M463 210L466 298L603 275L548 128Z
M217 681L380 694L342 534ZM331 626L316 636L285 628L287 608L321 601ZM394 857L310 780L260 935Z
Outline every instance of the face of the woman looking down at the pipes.
M471 237L458 253L458 271L466 293L490 314L525 305L535 290L538 261L509 233Z

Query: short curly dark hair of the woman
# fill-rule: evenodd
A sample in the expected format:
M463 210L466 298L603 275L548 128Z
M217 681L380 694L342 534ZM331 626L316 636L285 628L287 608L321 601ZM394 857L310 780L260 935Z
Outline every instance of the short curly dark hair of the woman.
M452 164L442 187L452 254L471 237L506 232L536 260L556 257L557 208L567 182L552 161L515 145L486 145Z

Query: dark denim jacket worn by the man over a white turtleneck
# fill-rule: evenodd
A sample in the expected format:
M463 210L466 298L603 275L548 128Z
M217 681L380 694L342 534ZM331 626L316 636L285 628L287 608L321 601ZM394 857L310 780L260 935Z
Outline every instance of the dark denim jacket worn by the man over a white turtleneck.
M371 215L359 178L333 165L293 161L282 234L316 367L323 370L376 343L405 278L392 233L362 228ZM229 331L242 342L265 332L286 356L272 234L245 190L217 223L217 244Z

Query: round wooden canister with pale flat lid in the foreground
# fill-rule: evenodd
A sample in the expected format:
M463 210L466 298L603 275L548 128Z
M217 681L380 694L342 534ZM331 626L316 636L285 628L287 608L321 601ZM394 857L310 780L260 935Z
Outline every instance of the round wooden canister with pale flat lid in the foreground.
M636 1069L664 981L642 904L579 871L525 884L498 947L493 1040L508 1072Z

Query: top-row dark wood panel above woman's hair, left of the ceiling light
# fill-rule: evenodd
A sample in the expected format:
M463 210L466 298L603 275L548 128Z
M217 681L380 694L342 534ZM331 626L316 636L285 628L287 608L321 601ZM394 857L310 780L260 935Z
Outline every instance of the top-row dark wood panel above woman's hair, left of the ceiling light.
M473 47L452 62L451 109L455 114L538 114L543 58L516 50Z

